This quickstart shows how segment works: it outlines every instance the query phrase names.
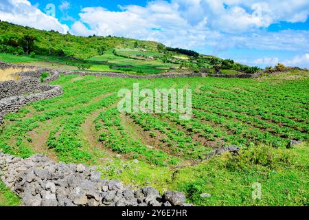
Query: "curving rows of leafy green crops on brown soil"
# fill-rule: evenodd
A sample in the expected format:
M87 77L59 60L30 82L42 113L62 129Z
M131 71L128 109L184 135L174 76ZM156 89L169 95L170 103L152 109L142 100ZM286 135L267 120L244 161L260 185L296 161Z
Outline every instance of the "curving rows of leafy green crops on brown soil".
M192 89L191 120L178 113L128 113L121 119L115 107L119 89ZM178 164L204 159L219 146L268 144L284 147L289 140L308 140L308 80L288 83L251 79L175 78L136 80L62 76L52 84L64 94L29 104L19 113L6 115L0 147L27 157L34 153L31 131L49 129L45 144L65 162L90 162L93 155L84 148L82 124L99 111L92 123L103 146L128 158L139 157L150 164ZM132 138L121 120L130 120L143 140ZM99 140L100 139L100 140Z

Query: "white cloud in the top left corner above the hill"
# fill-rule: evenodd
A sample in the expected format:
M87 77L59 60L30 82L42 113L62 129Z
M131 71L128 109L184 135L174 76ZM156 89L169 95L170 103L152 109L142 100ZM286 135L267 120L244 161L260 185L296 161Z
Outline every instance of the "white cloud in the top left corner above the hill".
M69 30L67 25L63 25L58 19L41 12L27 0L1 0L0 19L40 30L57 30L61 33L66 33Z

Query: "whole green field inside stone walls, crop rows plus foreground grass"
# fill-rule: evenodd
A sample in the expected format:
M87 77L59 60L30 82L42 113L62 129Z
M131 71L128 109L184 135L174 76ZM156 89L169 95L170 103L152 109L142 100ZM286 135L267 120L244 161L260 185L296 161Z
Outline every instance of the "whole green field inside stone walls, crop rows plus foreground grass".
M193 116L119 113L117 92L192 89ZM5 116L0 148L29 157L96 165L125 184L180 190L196 206L308 206L308 72L258 79L136 80L61 76L64 94ZM289 140L303 144L286 148ZM220 146L238 155L204 160ZM137 160L136 160L137 159ZM252 186L262 184L262 199ZM3 190L0 190L0 198ZM211 197L202 198L202 193ZM10 199L9 199L10 200ZM1 199L0 199L1 203Z

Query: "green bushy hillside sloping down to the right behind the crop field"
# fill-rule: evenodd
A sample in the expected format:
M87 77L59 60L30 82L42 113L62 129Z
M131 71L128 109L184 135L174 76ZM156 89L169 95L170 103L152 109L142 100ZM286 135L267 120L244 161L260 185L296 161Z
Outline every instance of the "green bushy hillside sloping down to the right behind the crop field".
M216 73L218 68L214 69L214 65L222 68L222 74L253 74L260 70L152 41L114 36L74 36L6 22L0 22L0 61L130 74Z

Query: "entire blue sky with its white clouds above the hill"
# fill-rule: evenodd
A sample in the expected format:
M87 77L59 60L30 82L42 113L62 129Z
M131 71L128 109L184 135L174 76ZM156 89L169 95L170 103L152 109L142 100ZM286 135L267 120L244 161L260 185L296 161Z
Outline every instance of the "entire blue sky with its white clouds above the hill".
M46 8L50 3L55 11ZM0 2L3 21L81 36L159 41L260 67L309 67L308 14L308 0Z

